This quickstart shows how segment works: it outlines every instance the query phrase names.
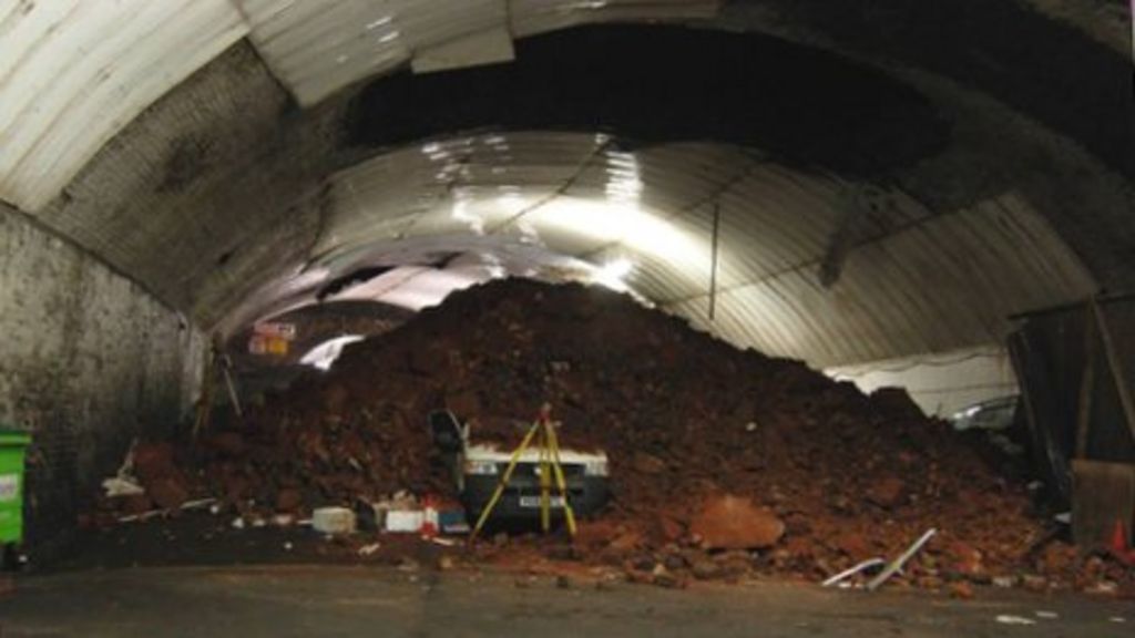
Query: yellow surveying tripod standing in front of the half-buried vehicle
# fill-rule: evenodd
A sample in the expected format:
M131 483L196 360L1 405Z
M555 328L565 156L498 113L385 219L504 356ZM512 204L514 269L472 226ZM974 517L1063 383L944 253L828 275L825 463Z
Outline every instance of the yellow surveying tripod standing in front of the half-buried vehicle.
M501 476L501 481L497 482L496 489L493 492L493 497L489 498L488 505L481 512L479 519L477 519L477 524L473 527L472 534L469 535L469 543L472 544L477 539L477 535L480 534L481 528L489 520L493 514L493 509L496 507L497 503L501 501L501 496L504 495L505 488L508 487L508 481L512 480L512 475L516 470L516 464L520 462L520 457L524 454L535 442L538 452L539 468L540 468L540 529L547 534L552 529L552 481L555 480L556 489L560 492L560 498L563 500L564 507L564 520L568 521L568 534L574 538L575 537L575 513L571 509L571 503L568 501L568 481L564 479L564 469L560 463L560 439L556 437L556 427L552 422L552 408L545 404L540 408L540 415L537 417L536 422L532 427L528 429L528 434L524 435L523 440L516 446L516 450L512 452L512 457L508 460L508 467L505 469L504 475Z

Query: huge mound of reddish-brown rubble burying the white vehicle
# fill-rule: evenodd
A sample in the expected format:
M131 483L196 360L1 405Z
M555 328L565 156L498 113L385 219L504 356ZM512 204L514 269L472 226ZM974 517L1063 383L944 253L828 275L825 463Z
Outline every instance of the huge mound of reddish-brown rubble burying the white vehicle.
M208 494L242 513L447 495L430 410L511 446L545 402L564 446L611 462L612 503L573 549L585 562L679 581L823 580L933 528L898 581L1135 584L1130 570L1052 543L1024 486L903 392L866 396L580 285L456 293L258 402L195 457L174 463L159 446L143 463L157 469L138 478L160 506Z

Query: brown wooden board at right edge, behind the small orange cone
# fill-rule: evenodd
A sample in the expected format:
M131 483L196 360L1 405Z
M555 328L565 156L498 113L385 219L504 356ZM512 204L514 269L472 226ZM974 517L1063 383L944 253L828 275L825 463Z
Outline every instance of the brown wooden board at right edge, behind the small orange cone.
M1135 519L1135 465L1075 459L1071 462L1071 529L1084 549L1105 548L1116 521L1123 521L1130 543Z

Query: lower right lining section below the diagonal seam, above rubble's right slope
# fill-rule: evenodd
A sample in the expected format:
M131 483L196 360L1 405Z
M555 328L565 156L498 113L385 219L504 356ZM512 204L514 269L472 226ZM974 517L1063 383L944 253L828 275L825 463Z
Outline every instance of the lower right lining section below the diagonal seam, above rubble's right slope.
M998 343L1010 313L1083 299L1094 287L1075 254L1011 193L856 246L831 288L819 284L817 266L814 255L720 289L714 321L705 294L662 305L739 345L835 366Z

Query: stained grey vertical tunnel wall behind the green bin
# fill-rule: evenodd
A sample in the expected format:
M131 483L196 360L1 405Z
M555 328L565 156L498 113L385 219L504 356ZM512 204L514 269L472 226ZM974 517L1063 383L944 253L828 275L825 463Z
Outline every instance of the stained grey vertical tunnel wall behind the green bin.
M30 430L25 540L53 553L131 440L174 428L205 339L102 262L0 204L0 427Z

